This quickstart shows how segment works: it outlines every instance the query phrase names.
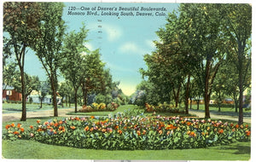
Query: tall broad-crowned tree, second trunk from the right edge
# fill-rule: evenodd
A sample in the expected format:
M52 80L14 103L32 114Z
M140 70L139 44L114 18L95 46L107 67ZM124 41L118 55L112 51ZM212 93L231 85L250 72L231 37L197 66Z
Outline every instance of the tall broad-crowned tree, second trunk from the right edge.
M210 118L212 84L226 55L224 34L221 31L223 15L219 8L217 3L187 3L182 4L179 9L180 19L183 19L185 25L189 25L184 30L184 36L193 51L193 75L199 84L204 85L205 118Z

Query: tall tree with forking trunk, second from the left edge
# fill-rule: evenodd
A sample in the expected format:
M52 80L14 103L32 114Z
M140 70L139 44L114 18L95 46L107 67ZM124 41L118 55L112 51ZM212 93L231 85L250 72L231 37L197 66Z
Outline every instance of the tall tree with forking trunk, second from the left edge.
M62 20L63 3L40 3L44 15L40 19L40 30L32 49L38 55L38 59L48 75L54 106L54 116L58 116L56 92L58 88L57 71L60 67L61 45L65 32L64 20Z

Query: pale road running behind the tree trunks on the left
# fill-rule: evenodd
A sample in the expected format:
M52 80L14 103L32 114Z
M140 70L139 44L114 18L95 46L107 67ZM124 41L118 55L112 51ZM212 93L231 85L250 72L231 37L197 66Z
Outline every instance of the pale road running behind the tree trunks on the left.
M59 117L69 117L66 113L73 112L74 108L58 109ZM37 112L26 112L26 118L41 118L41 117L53 117L54 110L42 110ZM21 113L2 113L3 122L20 120Z

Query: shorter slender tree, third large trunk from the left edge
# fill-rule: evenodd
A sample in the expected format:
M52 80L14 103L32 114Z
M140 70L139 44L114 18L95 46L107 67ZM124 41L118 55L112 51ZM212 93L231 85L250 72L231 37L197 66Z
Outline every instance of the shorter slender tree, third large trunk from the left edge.
M81 62L83 61L81 55L85 51L88 52L88 49L84 46L87 32L88 30L85 30L85 26L83 25L80 28L80 32L73 31L67 33L62 49L64 57L61 60L61 73L73 85L75 113L78 112L78 90L84 78L83 67L81 67Z

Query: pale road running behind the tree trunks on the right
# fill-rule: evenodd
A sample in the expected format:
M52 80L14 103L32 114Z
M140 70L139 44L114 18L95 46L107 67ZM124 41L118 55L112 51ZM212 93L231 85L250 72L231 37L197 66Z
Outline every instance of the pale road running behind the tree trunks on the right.
M189 110L189 113L195 114L199 118L204 118L205 117L204 112L200 112L200 111L196 111L196 110ZM218 114L214 114L214 113L211 113L210 115L211 115L212 119L229 119L229 120L234 120L235 122L238 121L238 117L236 117L236 116L218 115ZM251 123L251 118L244 117L243 121L246 122L246 123Z

